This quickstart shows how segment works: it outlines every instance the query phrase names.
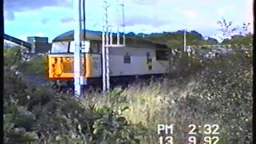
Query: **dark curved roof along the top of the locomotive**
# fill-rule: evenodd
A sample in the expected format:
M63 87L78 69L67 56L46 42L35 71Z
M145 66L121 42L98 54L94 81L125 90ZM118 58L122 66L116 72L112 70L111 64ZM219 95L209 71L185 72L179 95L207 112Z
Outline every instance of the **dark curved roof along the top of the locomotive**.
M82 30L82 39L83 39L84 30ZM121 35L121 34L120 34ZM96 40L102 41L102 32L101 31L93 31L86 30L86 39L87 40ZM120 38L122 41L122 38ZM64 34L58 35L53 39L53 42L66 42L74 40L74 30L70 30ZM116 34L113 34L113 41L116 42ZM142 38L135 38L128 36L126 37L126 46L150 46L150 47L158 47L158 48L167 48L165 44L150 42L149 40Z

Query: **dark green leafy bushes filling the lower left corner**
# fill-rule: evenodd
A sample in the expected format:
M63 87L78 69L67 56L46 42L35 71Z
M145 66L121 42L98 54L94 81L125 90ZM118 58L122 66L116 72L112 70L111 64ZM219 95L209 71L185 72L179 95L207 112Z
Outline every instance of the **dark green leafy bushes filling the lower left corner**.
M5 143L139 143L138 126L128 124L111 107L92 110L73 95L29 87L12 66L20 63L5 56Z

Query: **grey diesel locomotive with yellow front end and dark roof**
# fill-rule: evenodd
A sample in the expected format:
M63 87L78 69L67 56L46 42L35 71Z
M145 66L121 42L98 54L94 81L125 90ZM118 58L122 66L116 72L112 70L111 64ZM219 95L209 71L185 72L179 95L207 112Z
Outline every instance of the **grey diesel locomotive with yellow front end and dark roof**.
M102 87L102 32L82 30L82 75L86 86ZM126 46L109 48L110 84L167 74L170 70L170 49L165 44L145 38L126 37ZM73 84L74 30L58 35L47 54L47 78Z

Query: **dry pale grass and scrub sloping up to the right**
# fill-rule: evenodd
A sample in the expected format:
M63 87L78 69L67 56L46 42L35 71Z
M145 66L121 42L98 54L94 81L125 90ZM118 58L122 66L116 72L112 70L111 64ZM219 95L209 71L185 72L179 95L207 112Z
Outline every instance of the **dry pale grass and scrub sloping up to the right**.
M218 124L219 143L251 143L252 59L248 53L237 50L226 57L191 64L201 70L150 86L116 89L105 97L85 98L83 104L110 106L117 112L125 109L122 115L128 122L147 129L141 143L158 142L158 124L174 124L175 143L187 142L189 124ZM202 136L198 134L197 139Z

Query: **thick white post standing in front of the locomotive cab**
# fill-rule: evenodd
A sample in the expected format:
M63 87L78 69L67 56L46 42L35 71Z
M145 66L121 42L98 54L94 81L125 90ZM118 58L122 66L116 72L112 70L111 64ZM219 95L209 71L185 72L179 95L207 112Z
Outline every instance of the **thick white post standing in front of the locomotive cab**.
M73 0L74 10L74 95L81 96L81 0Z

